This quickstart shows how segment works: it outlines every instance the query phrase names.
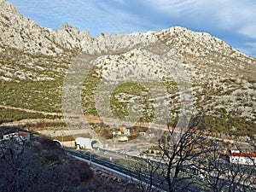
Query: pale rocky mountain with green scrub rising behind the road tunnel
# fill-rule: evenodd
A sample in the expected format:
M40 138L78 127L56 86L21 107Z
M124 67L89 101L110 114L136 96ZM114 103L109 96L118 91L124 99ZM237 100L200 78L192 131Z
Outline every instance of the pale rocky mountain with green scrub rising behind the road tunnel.
M127 66L146 70L135 74L135 79L143 73L154 73L168 93L175 95L177 82L169 75L168 66L160 61L160 55L165 57L168 53L166 58L174 63L172 69L180 65L186 70L193 87L193 113L203 111L207 131L238 136L256 134L256 59L233 49L221 39L180 26L130 35L102 33L91 38L89 32L79 32L68 24L55 32L38 26L4 0L0 0L0 7L2 106L61 112L63 82L73 58L78 58L81 51L95 57L90 61L94 68L84 80L84 113L99 113L94 104L96 87L93 85L102 79L111 80L113 73L121 72L122 77L115 75L114 78L123 79L129 73L125 72ZM157 45L163 47L157 48ZM135 86L131 85L130 92L123 90L124 87L114 92L112 109L118 117L127 113L124 109L127 102L138 97L145 99L147 91ZM143 93L135 93L138 90ZM178 96L170 103L175 117L181 108ZM154 116L154 105L146 105L144 113L148 113L146 116L150 119L150 115ZM1 117L3 121L9 113L15 113L6 109L2 112L5 113Z

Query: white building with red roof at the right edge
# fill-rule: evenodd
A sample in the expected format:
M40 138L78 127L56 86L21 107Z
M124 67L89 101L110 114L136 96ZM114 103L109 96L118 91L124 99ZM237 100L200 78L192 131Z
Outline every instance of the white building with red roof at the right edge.
M255 166L256 165L256 154L243 154L238 150L230 150L230 154L227 154L230 163Z

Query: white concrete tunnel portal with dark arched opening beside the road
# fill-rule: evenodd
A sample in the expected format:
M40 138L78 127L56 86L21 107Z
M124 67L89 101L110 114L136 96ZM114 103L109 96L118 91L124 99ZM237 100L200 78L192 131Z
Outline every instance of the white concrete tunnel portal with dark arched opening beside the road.
M77 148L86 148L90 150L93 150L96 148L103 148L102 143L97 139L77 137L75 139L75 143Z

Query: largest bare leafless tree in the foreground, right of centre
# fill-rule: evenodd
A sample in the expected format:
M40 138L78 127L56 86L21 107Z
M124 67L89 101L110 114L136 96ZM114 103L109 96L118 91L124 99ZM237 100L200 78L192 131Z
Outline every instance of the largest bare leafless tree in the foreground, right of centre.
M204 124L200 117L193 118L188 129L167 124L167 131L156 144L160 155L154 160L146 158L146 161L137 162L137 172L142 177L148 175L148 188L142 188L143 191L151 191L152 186L165 187L171 192L198 189L198 159L209 150L202 128ZM155 183L155 180L159 182Z

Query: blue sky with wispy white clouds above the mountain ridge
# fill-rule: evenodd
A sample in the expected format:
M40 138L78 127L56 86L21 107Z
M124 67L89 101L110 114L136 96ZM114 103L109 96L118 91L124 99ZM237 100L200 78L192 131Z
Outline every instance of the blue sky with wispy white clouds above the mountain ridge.
M7 0L20 14L56 30L68 23L101 32L160 31L183 26L208 32L256 57L255 0Z

